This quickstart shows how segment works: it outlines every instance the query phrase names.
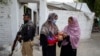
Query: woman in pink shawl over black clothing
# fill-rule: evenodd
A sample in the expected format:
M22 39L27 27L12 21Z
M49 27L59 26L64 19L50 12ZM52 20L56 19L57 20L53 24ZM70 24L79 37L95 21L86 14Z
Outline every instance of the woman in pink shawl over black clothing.
M58 43L61 46L60 56L76 56L80 39L80 28L75 17L69 17L68 25L63 30L63 41Z

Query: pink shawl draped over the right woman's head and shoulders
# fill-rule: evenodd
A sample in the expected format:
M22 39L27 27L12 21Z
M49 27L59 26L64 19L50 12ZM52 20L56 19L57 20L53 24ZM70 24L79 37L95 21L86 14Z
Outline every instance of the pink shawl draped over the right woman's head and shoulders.
M68 26L66 26L63 32L70 36L70 42L72 48L77 49L80 39L80 28L77 19L75 17L72 18L74 24L72 25L69 24Z

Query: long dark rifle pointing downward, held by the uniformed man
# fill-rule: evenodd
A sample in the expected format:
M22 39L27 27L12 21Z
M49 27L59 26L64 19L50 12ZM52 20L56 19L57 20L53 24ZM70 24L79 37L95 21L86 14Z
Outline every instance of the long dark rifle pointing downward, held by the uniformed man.
M22 25L22 26L23 26L23 25ZM13 55L13 52L14 52L14 50L15 50L15 47L17 46L18 41L21 42L21 39L19 40L19 38L21 38L19 35L20 35L20 31L21 31L21 29L22 29L22 26L20 27L20 30L19 30L19 31L17 32L17 34L16 34L16 38L15 38L15 40L14 40L14 42L13 42L12 50L11 50L11 53L9 54L9 56L12 56L12 55Z

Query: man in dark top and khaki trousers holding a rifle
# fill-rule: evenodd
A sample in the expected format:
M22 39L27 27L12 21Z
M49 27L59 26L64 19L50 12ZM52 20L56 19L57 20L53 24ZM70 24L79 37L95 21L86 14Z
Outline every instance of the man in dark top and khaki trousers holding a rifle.
M22 56L33 56L33 40L35 36L35 25L31 21L29 14L23 16L24 24L17 33L16 39L12 47L12 53L15 48L16 42L22 43Z

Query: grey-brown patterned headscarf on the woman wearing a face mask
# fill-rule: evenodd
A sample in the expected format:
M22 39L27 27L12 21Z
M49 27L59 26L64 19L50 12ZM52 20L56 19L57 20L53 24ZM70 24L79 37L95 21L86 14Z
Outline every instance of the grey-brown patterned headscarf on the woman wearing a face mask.
M53 35L58 33L58 27L53 23L55 16L57 16L55 13L49 14L47 21L42 25L41 34L47 36L49 31L51 31Z

